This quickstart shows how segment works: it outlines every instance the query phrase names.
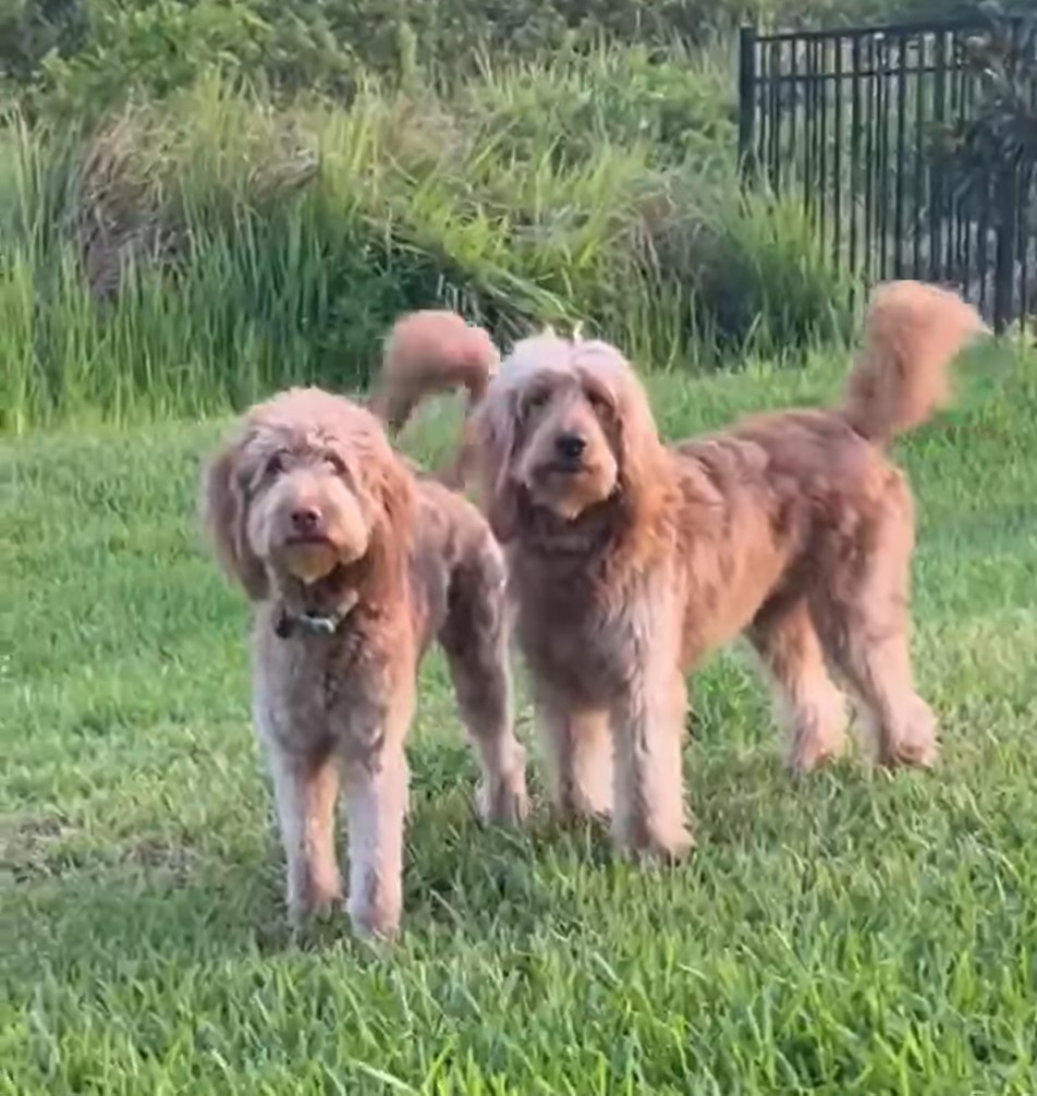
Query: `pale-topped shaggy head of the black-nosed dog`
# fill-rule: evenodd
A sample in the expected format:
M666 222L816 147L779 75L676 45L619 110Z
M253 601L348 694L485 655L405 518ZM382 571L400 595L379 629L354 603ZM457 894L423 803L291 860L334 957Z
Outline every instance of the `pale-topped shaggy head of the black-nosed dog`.
M666 479L645 390L608 343L550 331L517 343L475 420L490 523L502 541L523 512L572 526L608 505L645 522Z

